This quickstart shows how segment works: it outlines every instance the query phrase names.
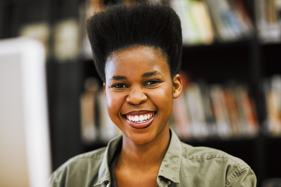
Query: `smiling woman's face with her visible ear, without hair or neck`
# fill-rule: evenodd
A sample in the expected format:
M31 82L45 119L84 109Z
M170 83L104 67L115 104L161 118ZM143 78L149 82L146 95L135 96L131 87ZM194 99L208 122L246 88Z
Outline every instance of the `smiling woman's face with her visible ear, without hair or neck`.
M106 61L104 93L107 111L117 127L136 144L169 133L173 98L181 93L180 76L170 76L167 58L159 49L131 47Z

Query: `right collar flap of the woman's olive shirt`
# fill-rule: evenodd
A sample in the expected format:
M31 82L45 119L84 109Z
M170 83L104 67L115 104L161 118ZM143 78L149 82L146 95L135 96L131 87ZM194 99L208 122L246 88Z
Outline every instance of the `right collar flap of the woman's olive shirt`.
M170 132L170 145L160 166L158 176L162 176L175 183L179 183L182 146L180 139L177 137L177 135L171 128Z

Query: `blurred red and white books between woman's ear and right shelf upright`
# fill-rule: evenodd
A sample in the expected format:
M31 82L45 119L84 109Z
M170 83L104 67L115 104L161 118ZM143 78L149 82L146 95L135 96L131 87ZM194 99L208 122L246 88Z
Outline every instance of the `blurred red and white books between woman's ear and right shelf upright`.
M259 124L245 84L190 82L174 100L170 125L182 139L254 137Z

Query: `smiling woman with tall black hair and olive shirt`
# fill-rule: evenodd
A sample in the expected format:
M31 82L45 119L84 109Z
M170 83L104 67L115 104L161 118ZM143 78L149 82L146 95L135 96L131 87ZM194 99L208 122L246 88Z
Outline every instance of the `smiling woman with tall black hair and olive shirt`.
M67 161L51 185L256 185L244 161L187 145L169 127L173 100L182 92L181 27L173 9L119 4L94 14L86 26L109 117L123 134Z

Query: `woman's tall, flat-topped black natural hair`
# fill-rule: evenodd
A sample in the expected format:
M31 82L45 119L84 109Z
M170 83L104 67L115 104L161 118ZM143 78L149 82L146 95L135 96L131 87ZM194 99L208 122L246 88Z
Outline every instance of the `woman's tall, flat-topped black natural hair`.
M171 76L180 71L180 18L169 6L155 2L106 6L87 19L86 30L96 70L104 82L107 58L131 46L160 48L167 56Z

